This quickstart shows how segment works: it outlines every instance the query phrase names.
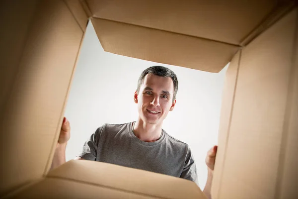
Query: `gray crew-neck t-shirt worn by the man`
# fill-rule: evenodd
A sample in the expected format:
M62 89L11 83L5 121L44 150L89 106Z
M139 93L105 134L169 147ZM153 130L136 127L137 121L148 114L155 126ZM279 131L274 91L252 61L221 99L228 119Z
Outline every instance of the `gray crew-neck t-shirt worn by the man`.
M196 164L186 143L164 130L159 140L144 142L134 135L132 122L99 127L78 156L184 178L198 184Z

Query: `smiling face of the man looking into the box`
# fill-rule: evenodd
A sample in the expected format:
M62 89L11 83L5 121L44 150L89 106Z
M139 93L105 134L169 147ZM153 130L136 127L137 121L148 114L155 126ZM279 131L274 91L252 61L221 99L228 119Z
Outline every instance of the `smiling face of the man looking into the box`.
M153 74L145 76L139 94L135 93L135 102L141 119L149 124L160 124L169 111L172 111L174 84L170 77L160 77Z

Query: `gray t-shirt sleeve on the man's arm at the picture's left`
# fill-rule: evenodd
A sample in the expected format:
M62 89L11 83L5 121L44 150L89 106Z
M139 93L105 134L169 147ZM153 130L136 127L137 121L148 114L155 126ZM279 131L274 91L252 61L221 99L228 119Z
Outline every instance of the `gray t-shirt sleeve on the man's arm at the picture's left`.
M103 126L96 129L96 131L84 143L82 151L77 156L85 160L96 160L97 146L102 129Z

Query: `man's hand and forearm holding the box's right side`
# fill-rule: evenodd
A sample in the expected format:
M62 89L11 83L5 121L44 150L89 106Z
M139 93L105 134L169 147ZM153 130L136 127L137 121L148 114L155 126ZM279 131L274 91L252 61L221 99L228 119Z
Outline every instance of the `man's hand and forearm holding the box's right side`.
M217 146L214 146L208 151L207 157L206 157L206 164L208 166L208 178L207 178L207 183L203 193L207 196L208 199L212 199L211 186L212 186L212 180L213 180L213 171L214 171L216 153L217 153Z

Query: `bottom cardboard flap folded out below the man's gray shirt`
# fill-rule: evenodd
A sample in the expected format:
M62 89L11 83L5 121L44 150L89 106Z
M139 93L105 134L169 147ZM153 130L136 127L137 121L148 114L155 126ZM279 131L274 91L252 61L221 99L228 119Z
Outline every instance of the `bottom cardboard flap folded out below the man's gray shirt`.
M63 178L164 199L205 199L192 181L102 162L72 160L47 178Z

